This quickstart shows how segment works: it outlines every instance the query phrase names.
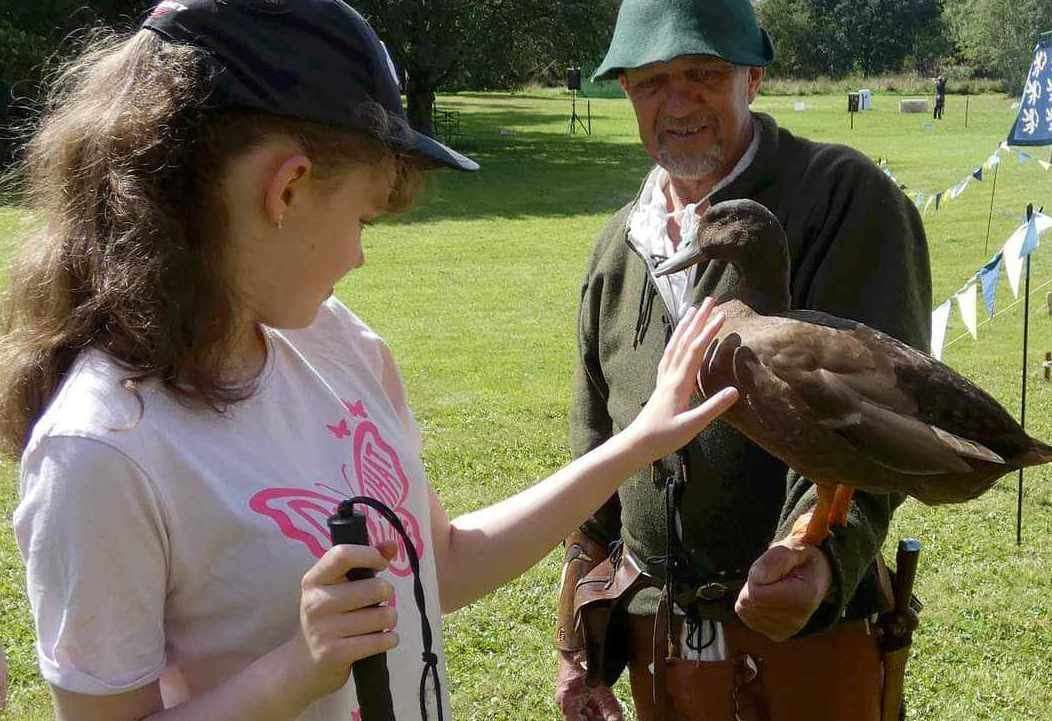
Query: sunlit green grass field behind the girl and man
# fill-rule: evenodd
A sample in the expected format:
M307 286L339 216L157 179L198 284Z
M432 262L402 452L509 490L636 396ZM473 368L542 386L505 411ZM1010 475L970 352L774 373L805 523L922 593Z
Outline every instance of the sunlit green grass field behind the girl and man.
M849 128L846 101L761 98L755 107L817 140L884 156L908 192L943 191L984 162L1007 135L1011 100L951 97L946 119L897 114L897 99ZM440 173L410 214L370 228L366 266L340 297L390 343L424 428L430 479L451 514L497 501L568 459L566 410L578 284L604 219L630 199L648 167L624 100L591 101L594 133L569 137L562 95L458 95L464 149L477 175ZM585 109L579 104L579 109ZM1041 152L1044 153L1044 151ZM1045 156L1041 155L1044 158ZM1052 207L1052 175L1006 156L989 252L990 176L925 216L935 302L956 292L1020 222L1027 202ZM0 239L18 223L0 211ZM1052 351L1052 236L1033 262L1028 426L1052 439L1052 383L1039 361ZM894 298L887 302L894 303ZM948 347L945 359L1018 410L1021 303L1003 278L1002 315ZM980 305L980 317L985 317ZM948 338L964 327L954 315ZM1024 543L1015 544L1014 476L967 505L908 502L892 541L924 543L917 593L925 601L908 679L909 718L925 721L1052 719L1052 466L1028 473ZM13 464L0 473L0 643L12 663L11 719L50 717L36 672L21 562L11 533ZM447 618L454 714L467 720L558 717L550 636L560 554L519 581ZM620 690L624 694L622 685ZM631 718L631 716L630 716Z

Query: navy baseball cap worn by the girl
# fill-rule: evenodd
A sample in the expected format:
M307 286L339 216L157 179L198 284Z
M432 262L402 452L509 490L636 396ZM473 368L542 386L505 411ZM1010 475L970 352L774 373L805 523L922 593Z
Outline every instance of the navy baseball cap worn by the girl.
M163 0L143 27L207 51L219 64L209 108L240 108L376 133L375 101L406 120L384 43L342 0ZM404 124L396 149L459 171L479 163Z

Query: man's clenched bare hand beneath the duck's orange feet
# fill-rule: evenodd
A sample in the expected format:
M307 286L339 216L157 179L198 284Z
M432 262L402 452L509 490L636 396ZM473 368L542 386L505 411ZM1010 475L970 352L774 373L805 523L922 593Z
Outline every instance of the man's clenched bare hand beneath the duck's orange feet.
M790 537L771 545L752 564L734 610L753 630L785 641L807 624L829 593L832 578L821 548Z

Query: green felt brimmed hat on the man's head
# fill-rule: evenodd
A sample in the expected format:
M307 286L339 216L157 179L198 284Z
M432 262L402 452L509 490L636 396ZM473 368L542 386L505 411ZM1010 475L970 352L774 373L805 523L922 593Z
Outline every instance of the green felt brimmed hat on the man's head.
M681 55L769 65L774 45L756 23L750 0L625 0L610 49L592 80Z

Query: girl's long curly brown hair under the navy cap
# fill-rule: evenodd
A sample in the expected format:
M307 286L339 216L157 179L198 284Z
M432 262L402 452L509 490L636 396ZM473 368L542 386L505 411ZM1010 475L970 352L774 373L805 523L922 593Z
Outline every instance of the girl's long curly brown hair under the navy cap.
M231 159L275 136L322 174L397 162L388 211L421 184L386 140L404 121L359 108L375 133L292 118L205 109L216 67L148 31L97 39L57 76L21 165L34 231L12 262L0 312L0 450L18 455L78 354L96 347L177 398L222 412L250 396L231 382L235 300L226 212L217 192Z

